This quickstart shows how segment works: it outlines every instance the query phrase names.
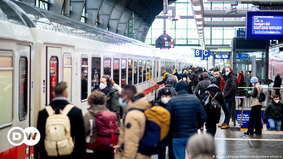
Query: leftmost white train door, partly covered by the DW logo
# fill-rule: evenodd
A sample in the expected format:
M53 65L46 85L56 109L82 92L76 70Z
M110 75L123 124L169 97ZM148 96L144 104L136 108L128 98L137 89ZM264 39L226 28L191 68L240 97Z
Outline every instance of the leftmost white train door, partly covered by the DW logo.
M15 80L17 81L15 81L15 83L19 83L19 87L17 87L17 90L15 91L17 92L17 94L15 94L15 96L17 96L15 112L17 113L19 120L17 126L22 128L32 126L30 125L30 120L33 118L33 114L30 113L30 51L30 46L17 45L18 58L15 59L15 69L18 69L18 71L16 71ZM29 156L30 154L33 154L33 146L30 148L30 146L25 145L25 148L22 149L22 151L24 152L18 153L23 153L26 156Z

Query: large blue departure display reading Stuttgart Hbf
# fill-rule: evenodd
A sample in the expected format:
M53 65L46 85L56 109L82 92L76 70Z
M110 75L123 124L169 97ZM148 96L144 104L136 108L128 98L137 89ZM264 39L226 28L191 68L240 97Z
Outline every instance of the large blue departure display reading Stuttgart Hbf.
M246 39L282 39L283 11L248 11Z

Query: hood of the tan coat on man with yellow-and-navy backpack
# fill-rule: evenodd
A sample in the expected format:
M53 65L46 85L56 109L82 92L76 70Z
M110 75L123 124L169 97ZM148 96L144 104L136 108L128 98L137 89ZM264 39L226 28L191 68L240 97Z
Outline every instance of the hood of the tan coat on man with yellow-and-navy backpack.
M134 95L134 97L138 96L138 95L142 95L142 94L143 94L143 92L136 93ZM143 96L141 98L136 99L134 102L132 102L132 100L130 100L128 102L127 106L126 106L126 111L129 110L130 108L148 109L149 107L150 107L150 104L148 102L148 99L145 96Z

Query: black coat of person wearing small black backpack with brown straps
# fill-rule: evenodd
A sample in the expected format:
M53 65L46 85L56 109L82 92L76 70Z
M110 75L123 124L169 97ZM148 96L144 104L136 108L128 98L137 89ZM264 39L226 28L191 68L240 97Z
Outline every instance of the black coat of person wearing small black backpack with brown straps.
M229 113L228 113L228 109L226 107L226 103L224 101L224 98L223 98L223 95L222 95L222 92L221 90L219 89L219 87L208 87L207 89L205 89L205 91L208 91L212 97L215 96L215 94L217 93L217 95L215 96L215 100L220 104L220 106L222 107L223 111L224 111L224 114L225 114L225 117L228 117L229 116ZM208 93L207 93L208 94ZM201 101L204 100L204 96L203 95L201 97ZM211 99L211 97L210 97ZM220 120L220 109L219 111L216 111L216 112L212 112L210 111L209 109L204 109L205 112L206 112L206 115L207 115L207 123L213 123L213 124L217 124L219 123L219 120Z

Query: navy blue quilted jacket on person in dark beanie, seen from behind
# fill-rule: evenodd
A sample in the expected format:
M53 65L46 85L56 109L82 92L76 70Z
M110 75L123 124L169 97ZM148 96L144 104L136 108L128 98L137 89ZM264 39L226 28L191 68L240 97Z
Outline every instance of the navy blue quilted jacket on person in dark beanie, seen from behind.
M207 115L200 100L186 90L179 90L171 97L166 109L171 114L170 129L173 138L188 138L204 124Z

